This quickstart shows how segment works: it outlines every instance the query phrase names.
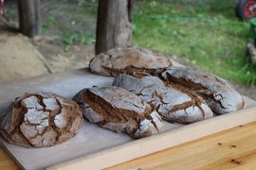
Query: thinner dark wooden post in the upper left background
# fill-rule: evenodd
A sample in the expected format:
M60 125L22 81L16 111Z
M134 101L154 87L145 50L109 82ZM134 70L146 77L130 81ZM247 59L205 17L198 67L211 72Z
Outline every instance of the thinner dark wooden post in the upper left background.
M40 0L18 0L20 31L28 37L40 32Z

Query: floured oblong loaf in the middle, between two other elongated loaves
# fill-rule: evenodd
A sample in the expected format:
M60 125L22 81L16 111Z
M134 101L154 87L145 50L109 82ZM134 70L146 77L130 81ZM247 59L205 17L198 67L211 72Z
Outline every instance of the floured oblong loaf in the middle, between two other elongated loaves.
M167 121L193 123L213 116L206 102L182 87L166 86L156 76L116 76L114 86L137 94Z

